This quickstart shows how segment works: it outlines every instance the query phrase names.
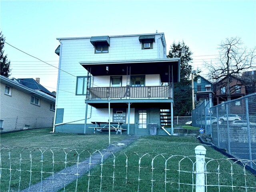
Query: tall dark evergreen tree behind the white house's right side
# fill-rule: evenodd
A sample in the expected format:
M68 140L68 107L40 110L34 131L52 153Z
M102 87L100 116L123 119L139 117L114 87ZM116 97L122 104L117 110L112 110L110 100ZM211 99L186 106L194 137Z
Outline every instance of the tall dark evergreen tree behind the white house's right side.
M170 47L167 58L180 58L180 82L174 83L174 116L187 116L192 110L192 89L190 74L192 52L184 41Z

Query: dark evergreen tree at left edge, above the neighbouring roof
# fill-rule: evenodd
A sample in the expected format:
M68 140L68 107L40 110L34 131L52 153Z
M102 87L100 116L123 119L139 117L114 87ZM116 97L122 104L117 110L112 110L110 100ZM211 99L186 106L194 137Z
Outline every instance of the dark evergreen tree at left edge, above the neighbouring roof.
M7 58L7 55L4 55L4 40L5 37L0 32L0 66L1 66L1 75L9 77L10 76L10 61Z

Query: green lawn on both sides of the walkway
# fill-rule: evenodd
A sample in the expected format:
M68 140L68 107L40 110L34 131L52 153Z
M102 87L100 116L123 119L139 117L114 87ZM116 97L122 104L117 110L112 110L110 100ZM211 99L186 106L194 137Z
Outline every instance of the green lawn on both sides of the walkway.
M102 149L108 145L106 134L52 134L50 131L51 129L26 130L0 136L0 143L4 146L35 147L13 148L10 153L11 160L8 150L1 149L1 168L7 168L2 169L1 173L2 191L8 191L9 183L10 191L18 191L19 185L20 190L27 188L29 184L40 182L41 177L49 176L50 172L57 172L65 166L75 165L78 161L78 154L79 162L81 162L95 151L83 151L83 149ZM129 136L111 135L111 143L120 142L127 137ZM139 189L144 192L151 191L151 186L154 192L195 191L195 188L192 188L192 184L195 184L193 162L195 162L194 148L198 145L201 143L192 136L141 136L130 146L123 148L122 152L116 153L115 158L110 157L102 165L99 164L92 168L90 176L84 175L66 186L65 191L74 192L77 189L77 191L84 192L89 189L89 191L96 192L101 189L101 192L133 192ZM51 150L46 150L46 148L51 148ZM62 150L62 148L79 150ZM205 148L206 158L227 158L210 146L205 146ZM21 149L24 150L21 152ZM11 174L8 170L10 162L11 168L16 169L12 170ZM206 159L206 162L207 184L213 185L208 186L207 191L246 191L243 187L232 189L227 186L252 187L248 188L247 192L256 190L256 177L251 176L249 172L246 172L246 176L243 175L243 168L239 165L232 166L231 160ZM33 171L31 175L30 172L19 171L30 169ZM220 189L218 184L222 185Z

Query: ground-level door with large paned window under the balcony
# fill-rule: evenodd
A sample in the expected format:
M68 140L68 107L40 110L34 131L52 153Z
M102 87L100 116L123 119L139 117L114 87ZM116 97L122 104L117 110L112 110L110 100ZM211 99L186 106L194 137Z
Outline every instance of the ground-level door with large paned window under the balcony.
M147 110L137 109L136 110L136 135L148 135L148 121L147 121Z

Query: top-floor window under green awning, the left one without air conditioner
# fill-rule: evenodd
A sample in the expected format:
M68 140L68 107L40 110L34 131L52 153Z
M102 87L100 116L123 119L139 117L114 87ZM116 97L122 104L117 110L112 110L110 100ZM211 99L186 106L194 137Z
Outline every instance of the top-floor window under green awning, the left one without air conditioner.
M110 46L109 36L94 36L91 37L90 42L94 46L94 53L108 53Z

